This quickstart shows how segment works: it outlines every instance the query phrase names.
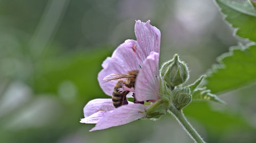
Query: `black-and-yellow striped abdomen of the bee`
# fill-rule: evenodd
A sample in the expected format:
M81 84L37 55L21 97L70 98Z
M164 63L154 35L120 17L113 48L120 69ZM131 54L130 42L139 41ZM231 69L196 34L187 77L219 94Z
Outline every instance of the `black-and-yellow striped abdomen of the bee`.
M129 93L129 91L125 91L123 93L120 93L118 89L122 88L122 82L123 80L119 80L114 88L114 91L112 93L112 101L113 105L117 108L119 106L128 104L128 101L126 99L126 95Z

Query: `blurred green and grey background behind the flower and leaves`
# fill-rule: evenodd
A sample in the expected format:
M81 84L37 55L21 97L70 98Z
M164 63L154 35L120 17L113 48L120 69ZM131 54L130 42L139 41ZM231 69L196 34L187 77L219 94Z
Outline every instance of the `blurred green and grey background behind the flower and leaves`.
M241 39L212 1L0 1L0 142L193 142L175 119L139 120L89 132L79 123L100 89L101 63L135 20L161 31L160 63L175 53L193 82ZM243 42L243 41L242 41ZM226 106L193 102L184 113L207 142L256 142L256 96L250 85L223 93Z

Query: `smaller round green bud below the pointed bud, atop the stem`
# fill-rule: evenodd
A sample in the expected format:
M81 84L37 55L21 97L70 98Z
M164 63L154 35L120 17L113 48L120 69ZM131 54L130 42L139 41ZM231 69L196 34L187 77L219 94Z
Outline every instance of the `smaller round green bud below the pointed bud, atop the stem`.
M173 104L178 110L188 105L191 100L192 96L188 87L175 89L172 93Z

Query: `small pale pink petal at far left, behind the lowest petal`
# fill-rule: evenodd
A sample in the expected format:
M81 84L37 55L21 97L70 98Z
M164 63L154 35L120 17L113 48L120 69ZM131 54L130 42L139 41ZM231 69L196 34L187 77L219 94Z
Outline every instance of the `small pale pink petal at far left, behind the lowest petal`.
M98 111L106 112L113 109L115 109L115 107L112 99L93 99L84 106L83 115L87 118Z

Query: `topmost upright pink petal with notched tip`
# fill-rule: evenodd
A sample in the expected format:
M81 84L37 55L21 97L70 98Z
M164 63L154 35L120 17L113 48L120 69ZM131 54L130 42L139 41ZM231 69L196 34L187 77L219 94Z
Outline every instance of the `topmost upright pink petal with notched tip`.
M150 20L147 20L145 23L137 20L135 24L135 35L140 45L140 54L145 55L144 59L151 51L159 53L161 33L157 27L150 24Z

